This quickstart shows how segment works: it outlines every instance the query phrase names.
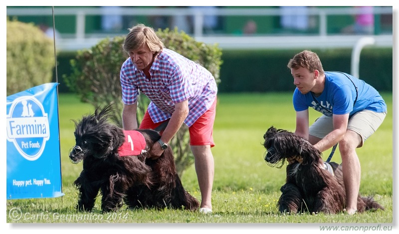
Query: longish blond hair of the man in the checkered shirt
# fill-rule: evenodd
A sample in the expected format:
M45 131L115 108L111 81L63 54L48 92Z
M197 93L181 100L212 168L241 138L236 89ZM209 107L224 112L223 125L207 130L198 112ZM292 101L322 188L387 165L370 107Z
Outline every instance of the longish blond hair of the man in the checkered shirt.
M135 50L142 46L144 43L150 47L152 52L157 56L164 48L164 43L158 38L152 27L145 26L142 23L129 28L129 34L126 36L122 44L123 50L129 53L130 50Z

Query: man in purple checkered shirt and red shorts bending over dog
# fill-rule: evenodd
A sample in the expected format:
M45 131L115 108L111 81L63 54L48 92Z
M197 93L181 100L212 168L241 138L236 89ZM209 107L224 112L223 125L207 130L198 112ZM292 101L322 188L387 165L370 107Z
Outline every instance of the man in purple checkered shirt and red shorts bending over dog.
M139 91L150 100L140 129L155 129L169 121L152 154L175 136L183 123L189 127L190 146L201 191L200 212L210 213L214 175L212 131L216 108L216 82L212 74L177 52L164 48L153 28L137 24L129 29L123 49L129 58L120 73L123 128L134 130Z

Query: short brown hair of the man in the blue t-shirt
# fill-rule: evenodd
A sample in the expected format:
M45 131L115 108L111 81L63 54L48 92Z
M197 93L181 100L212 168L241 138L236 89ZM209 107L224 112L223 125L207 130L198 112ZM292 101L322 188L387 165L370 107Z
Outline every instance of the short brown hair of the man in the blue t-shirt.
M295 56L290 59L287 64L288 68L297 69L299 67L305 67L310 72L318 70L320 74L324 74L324 69L321 64L319 56L310 50L304 50L300 53L295 54Z

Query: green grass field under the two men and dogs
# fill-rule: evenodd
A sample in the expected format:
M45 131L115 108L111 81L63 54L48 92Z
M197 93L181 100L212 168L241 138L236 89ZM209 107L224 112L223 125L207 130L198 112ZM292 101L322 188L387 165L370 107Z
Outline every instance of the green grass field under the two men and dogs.
M220 94L216 108L214 141L215 177L212 192L212 215L188 211L135 210L125 208L117 213L102 214L97 199L93 213L78 213L74 209L77 190L73 181L81 164L68 159L74 145L74 124L82 114L92 113L93 107L80 103L71 94L59 95L61 170L65 196L53 199L20 199L6 201L7 223L218 223L218 224L390 224L393 223L393 109L392 94L383 93L388 115L364 147L358 149L362 165L362 195L373 195L386 211L366 212L356 216L345 214L280 215L276 201L284 184L285 169L270 168L263 160L263 134L271 125L293 131L295 112L291 93ZM318 113L310 111L315 119ZM325 158L329 151L324 152ZM337 151L333 161L341 161ZM185 171L183 185L200 200L194 165ZM10 212L24 216L12 220ZM28 214L28 215L26 215ZM26 216L26 217L25 217Z

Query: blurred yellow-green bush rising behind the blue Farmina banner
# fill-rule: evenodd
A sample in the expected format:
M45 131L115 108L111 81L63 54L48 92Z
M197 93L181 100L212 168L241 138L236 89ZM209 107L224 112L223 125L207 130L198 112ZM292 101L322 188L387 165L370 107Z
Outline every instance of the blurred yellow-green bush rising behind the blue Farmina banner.
M37 26L7 18L7 96L48 83L54 44Z

